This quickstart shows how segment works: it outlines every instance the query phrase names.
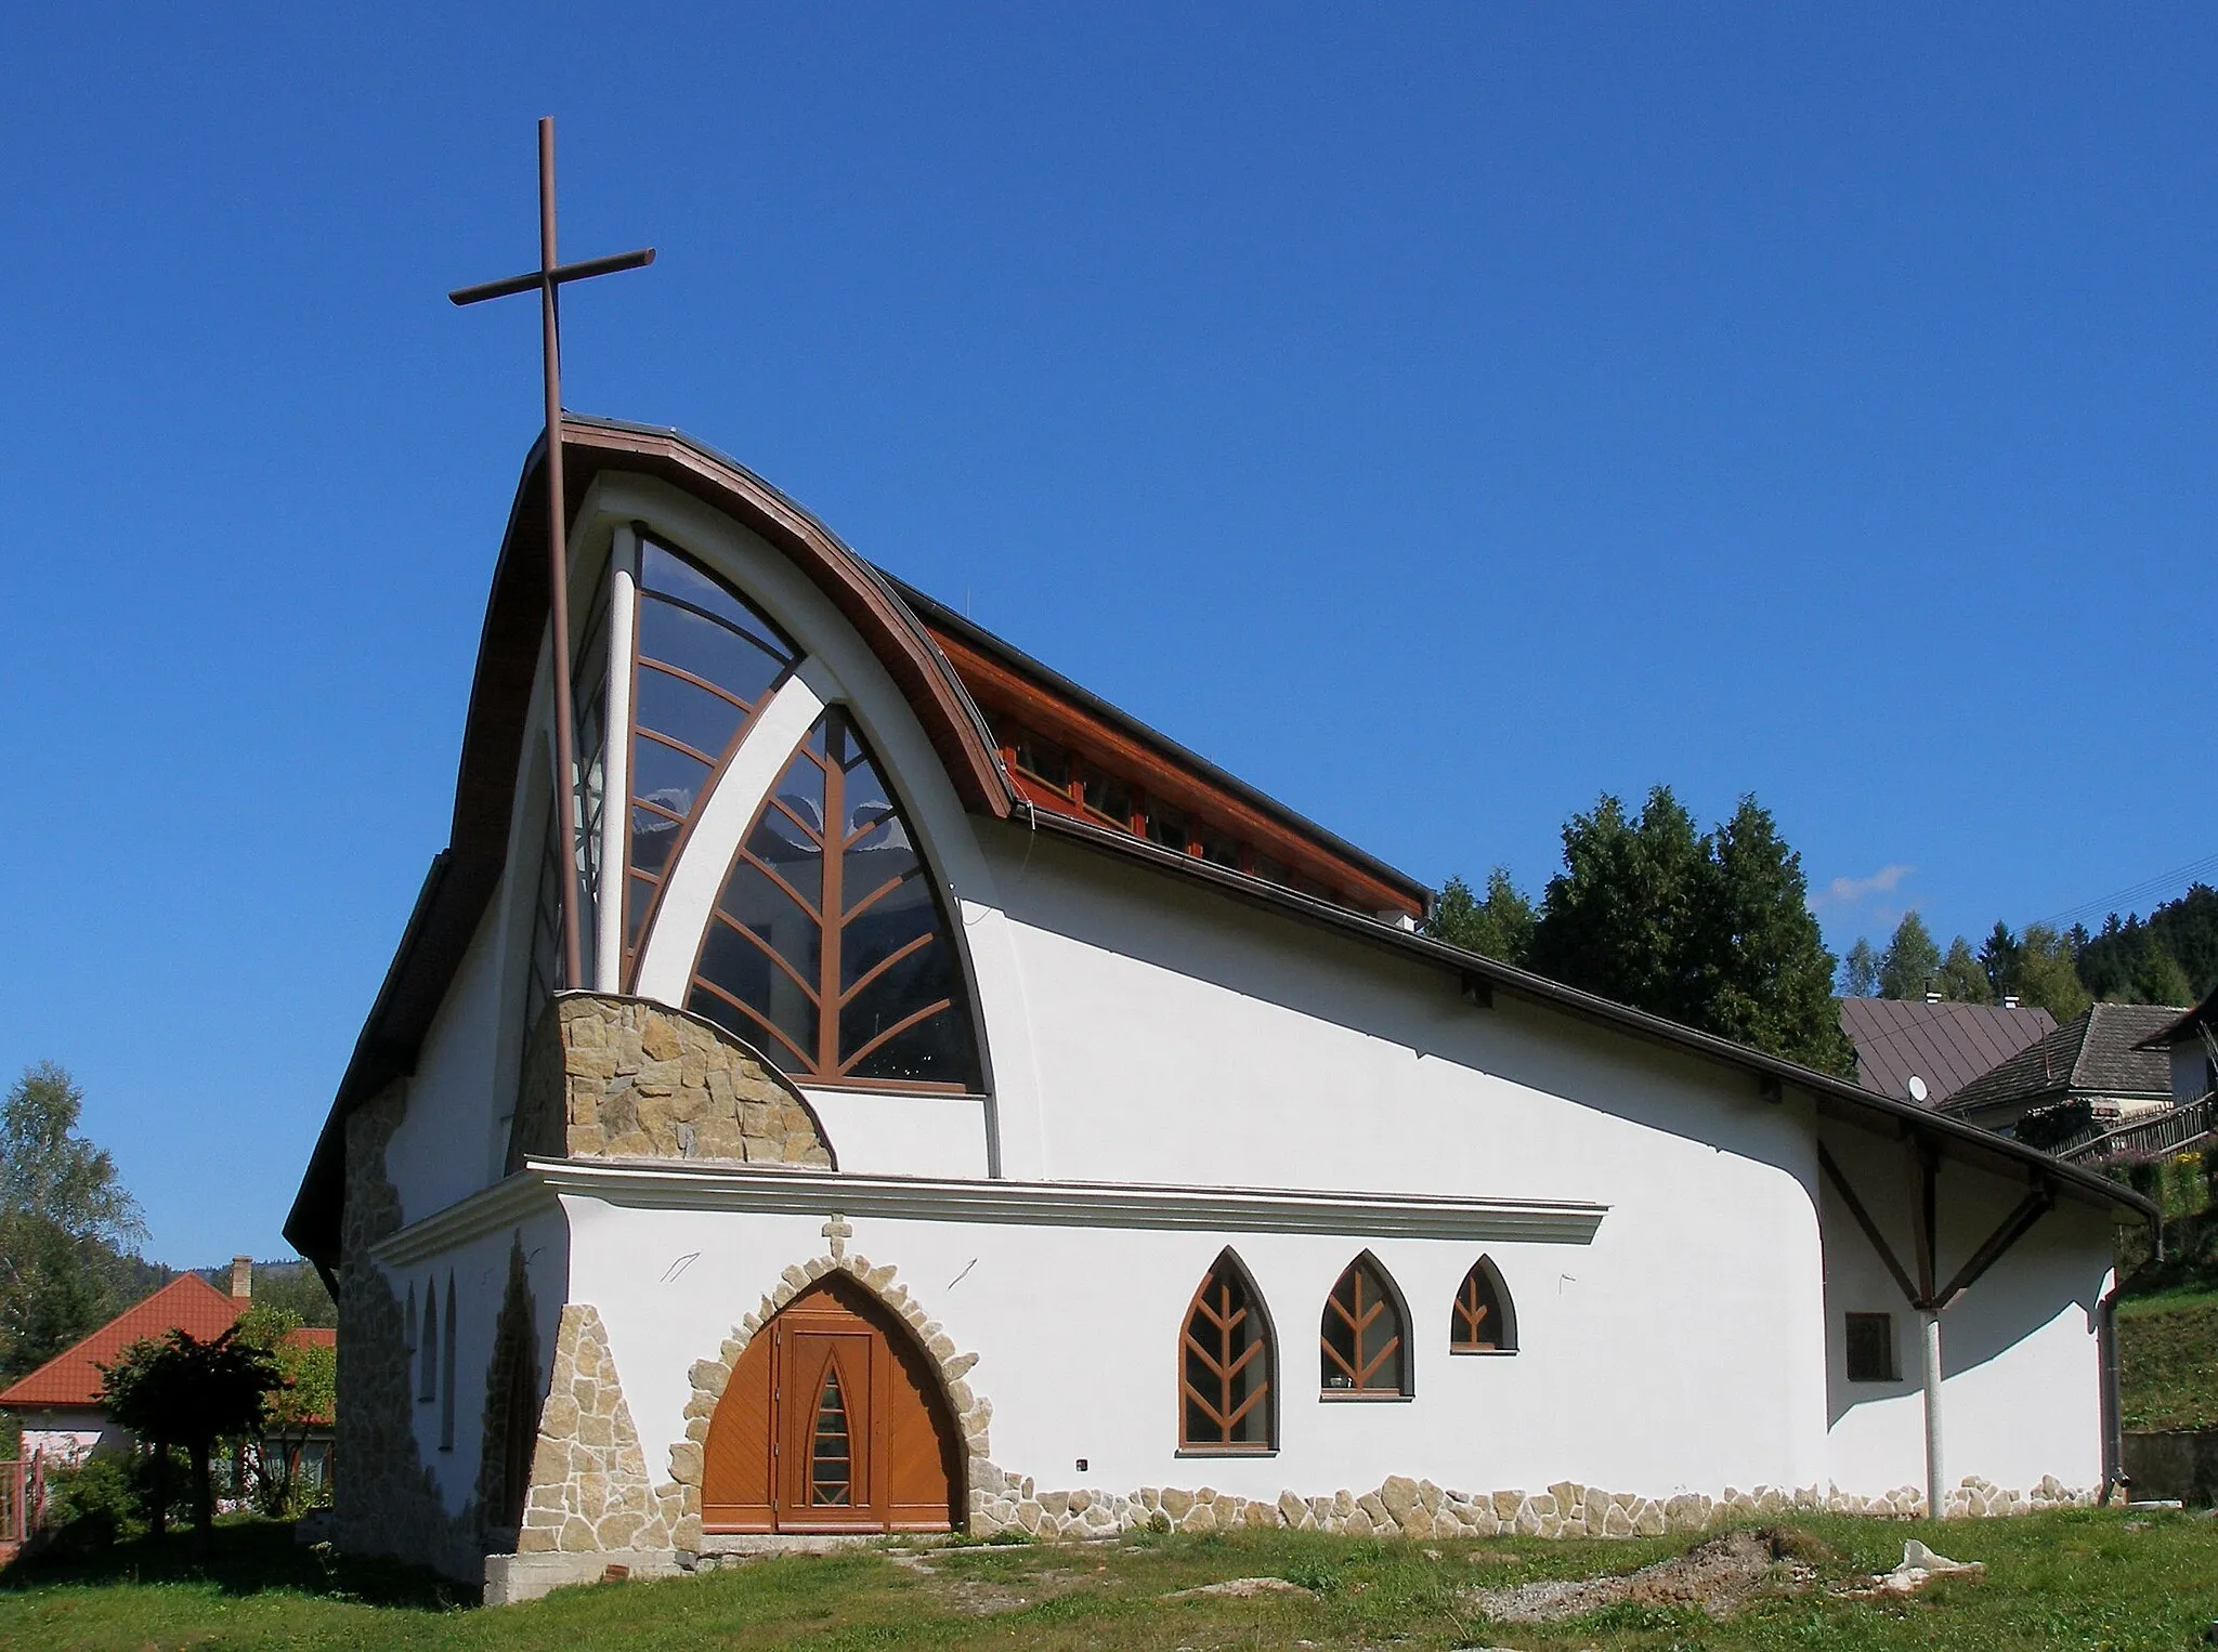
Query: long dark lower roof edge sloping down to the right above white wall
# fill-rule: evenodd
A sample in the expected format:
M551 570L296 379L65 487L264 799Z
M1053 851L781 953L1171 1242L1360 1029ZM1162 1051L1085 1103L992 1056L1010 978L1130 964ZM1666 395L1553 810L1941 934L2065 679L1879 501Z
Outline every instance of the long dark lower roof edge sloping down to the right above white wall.
M1681 1027L1679 1022L1652 1016L1646 1009L1632 1009L1630 1005L1597 998L1595 993L1579 991L1577 987L1566 987L1557 980L1548 980L1546 976L1535 976L1526 969L1517 969L1515 965L1504 965L1499 958L1451 947L1446 940L1433 940L1431 936L1413 929L1366 918L1360 911L1349 911L1346 907L1335 907L1329 900L1315 900L1313 896L1282 889L1273 883L1264 883L1262 878L1251 878L1209 860L1173 854L1162 845L1136 838L1113 827L1031 809L1027 809L1027 823L1036 832L1085 840L1096 849L1107 849L1156 871L1200 878L1235 900L1247 900L1249 905L1326 925L1371 947L1406 958L1422 958L1439 969L1453 971L1457 980L1466 985L1466 996L1479 998L1482 1002L1488 1002L1493 991L1504 991L1546 1009L1557 1009L1581 1020L1612 1027L1630 1038L1659 1044L1664 1049L1734 1067L1757 1080L1759 1095L1770 1095L1774 1091L1783 1091L1785 1084L1794 1084L1817 1102L1823 1118L1896 1140L1919 1135L1958 1162L1978 1164L1981 1169L2012 1180L2023 1180L2027 1175L2049 1177L2061 1189L2067 1189L2089 1202L2120 1204L2151 1222L2156 1220L2156 1206L2149 1200L2105 1175L2098 1175L2096 1171L2080 1169L2043 1153L2041 1149L2025 1146L2023 1142L1996 1135L1994 1131L1983 1131L1976 1124L1954 1120L1945 1113L1927 1111L1916 1102L1899 1102L1892 1095L1879 1095L1863 1089L1854 1080L1834 1078L1832 1073L1821 1073L1814 1067L1803 1067L1801 1062L1790 1062L1781 1056L1768 1056L1761 1049L1750 1049L1748 1044L1734 1044L1730 1038L1719 1038L1717 1033ZM1473 985L1488 991L1473 993L1468 991Z

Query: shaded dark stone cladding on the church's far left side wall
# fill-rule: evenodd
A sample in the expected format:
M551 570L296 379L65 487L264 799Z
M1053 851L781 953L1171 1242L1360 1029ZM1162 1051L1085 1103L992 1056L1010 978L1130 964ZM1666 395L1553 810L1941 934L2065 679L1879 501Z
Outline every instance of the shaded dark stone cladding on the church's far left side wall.
M406 1095L406 1082L395 1082L346 1120L333 1537L355 1554L395 1554L475 1583L484 1557L477 1499L448 1515L417 1452L406 1315L370 1262L370 1246L401 1226L386 1144Z

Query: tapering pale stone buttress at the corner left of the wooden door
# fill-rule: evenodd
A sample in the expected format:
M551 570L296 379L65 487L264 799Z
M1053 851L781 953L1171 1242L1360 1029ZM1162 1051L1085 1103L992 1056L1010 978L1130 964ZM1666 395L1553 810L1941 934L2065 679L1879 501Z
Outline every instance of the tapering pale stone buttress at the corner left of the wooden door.
M683 1495L654 1488L601 1311L572 1302L554 1330L519 1554L670 1550Z

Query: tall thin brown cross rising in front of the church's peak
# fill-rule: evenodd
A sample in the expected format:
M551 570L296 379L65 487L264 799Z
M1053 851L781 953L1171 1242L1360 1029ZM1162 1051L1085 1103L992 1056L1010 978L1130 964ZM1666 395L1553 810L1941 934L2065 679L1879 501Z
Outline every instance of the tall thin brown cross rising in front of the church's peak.
M561 820L557 843L570 845L568 876L561 878L561 956L563 987L583 987L583 942L579 938L577 914L577 749L570 727L570 552L566 539L566 510L561 483L561 306L557 293L566 282L583 282L594 275L637 271L654 262L654 248L641 246L634 253L612 253L588 257L577 264L554 262L554 118L539 120L539 268L510 275L501 282L479 286L457 286L448 293L457 306L481 304L484 299L510 297L515 293L539 293L539 350L546 373L548 404L548 608L554 625L554 769L561 774Z

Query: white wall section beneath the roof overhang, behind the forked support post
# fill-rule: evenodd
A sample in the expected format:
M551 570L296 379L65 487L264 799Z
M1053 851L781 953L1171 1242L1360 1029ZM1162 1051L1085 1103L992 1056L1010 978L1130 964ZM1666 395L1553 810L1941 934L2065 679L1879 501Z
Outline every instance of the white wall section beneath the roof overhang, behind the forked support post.
M1903 1146L1825 1126L1825 1144L1856 1197L1916 1279L1910 1175ZM1941 1282L2025 1197L2025 1182L1943 1162L1939 1180ZM1828 1475L1865 1497L1925 1486L1925 1395L1919 1317L1863 1237L1839 1193L1825 1189ZM1943 1477L1967 1475L2025 1490L2043 1475L2074 1488L2103 1479L2096 1304L2109 1291L2109 1215L2063 1200L1941 1315ZM1901 1381L1848 1381L1845 1315L1890 1313Z

